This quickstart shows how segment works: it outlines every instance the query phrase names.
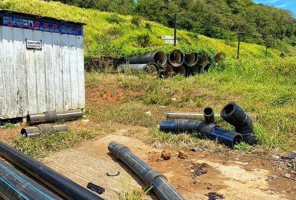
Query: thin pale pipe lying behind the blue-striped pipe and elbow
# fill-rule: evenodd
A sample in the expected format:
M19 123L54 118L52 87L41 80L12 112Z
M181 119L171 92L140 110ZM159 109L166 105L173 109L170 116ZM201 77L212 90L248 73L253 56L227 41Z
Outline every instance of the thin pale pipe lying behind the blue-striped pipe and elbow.
M249 117L253 120L257 120L257 114L247 113ZM216 118L221 117L220 113L214 114ZM167 119L201 119L204 117L203 113L194 113L194 112L174 112L169 111L166 113Z

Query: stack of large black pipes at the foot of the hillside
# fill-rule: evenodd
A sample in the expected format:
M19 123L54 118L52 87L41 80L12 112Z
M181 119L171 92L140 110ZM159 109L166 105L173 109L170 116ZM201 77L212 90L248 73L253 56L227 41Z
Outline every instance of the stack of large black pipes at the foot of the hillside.
M225 54L218 52L213 55L213 60L219 63ZM175 49L169 54L155 51L144 56L125 57L124 64L120 65L123 73L146 72L160 78L171 78L174 75L195 75L208 71L211 67L211 57L199 56L197 53L183 54Z

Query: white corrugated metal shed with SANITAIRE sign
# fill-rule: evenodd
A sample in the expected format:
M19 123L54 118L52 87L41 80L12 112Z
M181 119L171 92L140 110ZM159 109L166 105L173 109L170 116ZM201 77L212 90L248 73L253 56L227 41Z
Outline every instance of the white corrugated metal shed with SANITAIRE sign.
M85 108L83 25L0 9L0 119Z

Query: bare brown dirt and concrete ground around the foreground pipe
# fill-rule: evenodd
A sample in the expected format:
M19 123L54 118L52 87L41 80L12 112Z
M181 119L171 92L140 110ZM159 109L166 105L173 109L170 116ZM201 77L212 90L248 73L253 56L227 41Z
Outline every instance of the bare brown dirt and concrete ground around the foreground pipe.
M295 199L296 182L289 179L286 163L253 156L235 155L234 151L210 154L190 151L187 158L178 158L178 150L170 148L171 159L160 158L162 148L151 148L138 139L126 136L122 129L117 133L83 143L78 147L56 152L43 160L47 166L64 174L86 187L95 183L106 192L100 195L106 200L115 200L115 191L121 191L120 177L131 177L131 188L145 187L137 175L124 163L115 159L108 151L111 141L122 143L152 168L161 171L169 183L186 200L208 200L209 193L215 192L225 200L292 200ZM202 171L195 175L196 171ZM118 176L107 176L106 172ZM285 177L286 176L286 177ZM288 178L287 178L288 177ZM157 200L153 194L146 199ZM218 196L214 199L219 199Z

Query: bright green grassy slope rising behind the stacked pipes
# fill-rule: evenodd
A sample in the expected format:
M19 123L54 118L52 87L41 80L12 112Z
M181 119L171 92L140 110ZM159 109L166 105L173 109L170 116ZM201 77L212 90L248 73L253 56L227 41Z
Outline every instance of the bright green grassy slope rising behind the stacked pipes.
M81 20L84 27L85 55L107 55L118 57L133 52L135 48L150 47L152 49L173 49L173 45L165 45L161 35L173 35L174 30L148 22L140 17L121 16L114 13L100 12L68 6L60 2L42 0L3 0L0 8L33 13L72 21ZM227 57L236 57L237 41L211 39L203 35L178 30L177 47L211 47L222 51ZM278 45L279 46L279 45ZM285 54L296 55L296 48L282 47ZM278 57L281 51L268 49L268 57ZM241 43L241 58L264 58L265 47Z

